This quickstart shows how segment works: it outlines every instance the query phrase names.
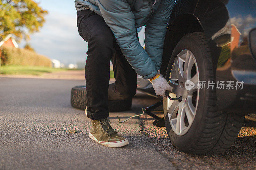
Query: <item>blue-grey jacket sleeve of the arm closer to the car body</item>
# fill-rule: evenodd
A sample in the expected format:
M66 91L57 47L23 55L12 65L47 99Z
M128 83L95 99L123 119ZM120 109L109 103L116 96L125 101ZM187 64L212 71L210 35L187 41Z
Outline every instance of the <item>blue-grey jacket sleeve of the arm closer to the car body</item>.
M161 0L156 11L146 23L145 50L155 63L156 70L162 64L163 46L172 9L177 0Z

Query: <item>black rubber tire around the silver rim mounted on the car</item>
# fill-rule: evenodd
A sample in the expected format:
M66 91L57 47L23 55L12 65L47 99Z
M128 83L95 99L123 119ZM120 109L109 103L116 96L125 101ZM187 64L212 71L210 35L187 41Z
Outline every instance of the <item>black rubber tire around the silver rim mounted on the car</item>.
M214 81L212 58L204 33L189 33L176 45L166 72L166 79L176 56L184 49L190 50L198 65L200 81ZM164 98L164 121L172 144L190 154L217 154L230 147L241 129L243 117L216 111L215 89L200 89L194 122L188 132L178 136L172 130L167 114L167 98Z

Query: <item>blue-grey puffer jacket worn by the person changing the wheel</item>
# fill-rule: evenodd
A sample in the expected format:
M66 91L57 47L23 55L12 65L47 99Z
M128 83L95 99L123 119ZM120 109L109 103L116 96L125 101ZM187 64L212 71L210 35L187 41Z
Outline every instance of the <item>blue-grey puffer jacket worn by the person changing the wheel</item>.
M132 68L149 79L162 63L163 44L177 0L75 0L76 10L90 9L102 16ZM145 49L136 28L146 25Z

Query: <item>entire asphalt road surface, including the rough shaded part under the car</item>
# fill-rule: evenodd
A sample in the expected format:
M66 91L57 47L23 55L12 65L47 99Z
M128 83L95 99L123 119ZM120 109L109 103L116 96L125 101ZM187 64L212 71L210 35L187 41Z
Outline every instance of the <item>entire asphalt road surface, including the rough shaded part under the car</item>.
M88 137L90 121L70 105L71 88L84 80L0 78L0 169L255 169L256 116L244 125L235 144L223 154L196 156L177 151L165 128L141 112L157 99L138 94L132 110L109 119L129 139L108 148ZM77 130L77 133L68 133Z

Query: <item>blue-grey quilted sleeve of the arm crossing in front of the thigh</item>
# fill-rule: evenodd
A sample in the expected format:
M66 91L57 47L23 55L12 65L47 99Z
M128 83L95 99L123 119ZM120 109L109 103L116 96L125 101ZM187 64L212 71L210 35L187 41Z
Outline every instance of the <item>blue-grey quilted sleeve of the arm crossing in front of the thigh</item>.
M154 77L157 73L155 64L136 37L135 17L127 0L98 0L98 5L132 68L143 79Z

